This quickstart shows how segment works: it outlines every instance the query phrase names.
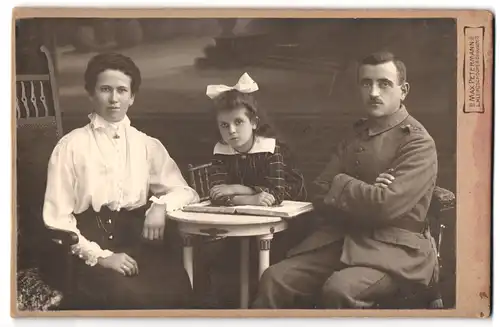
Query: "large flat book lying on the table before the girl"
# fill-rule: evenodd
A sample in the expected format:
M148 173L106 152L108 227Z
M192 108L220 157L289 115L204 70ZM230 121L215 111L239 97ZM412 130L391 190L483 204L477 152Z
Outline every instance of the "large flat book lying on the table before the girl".
M194 203L185 206L183 211L200 212L200 213L220 213L220 214L239 214L239 215L254 215L254 216L272 216L281 218L293 218L300 214L313 210L311 202L288 201L285 200L276 206L255 206L255 205L239 205L239 206L220 206L213 205L210 200L200 203Z

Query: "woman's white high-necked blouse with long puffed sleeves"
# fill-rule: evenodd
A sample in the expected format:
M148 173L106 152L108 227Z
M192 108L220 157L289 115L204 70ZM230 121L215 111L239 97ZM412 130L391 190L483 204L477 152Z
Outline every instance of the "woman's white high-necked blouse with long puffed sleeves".
M177 164L161 142L134 127L125 117L111 124L97 114L90 123L63 136L48 166L43 207L45 224L77 233L72 252L95 265L99 257L113 254L91 242L77 228L73 214L90 206L131 210L150 200L165 204L167 211L199 201Z

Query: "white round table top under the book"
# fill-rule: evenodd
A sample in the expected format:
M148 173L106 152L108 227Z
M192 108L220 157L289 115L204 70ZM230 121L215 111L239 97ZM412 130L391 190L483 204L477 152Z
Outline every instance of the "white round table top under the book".
M185 212L182 210L168 212L167 215L172 220L207 225L259 225L283 221L280 217Z

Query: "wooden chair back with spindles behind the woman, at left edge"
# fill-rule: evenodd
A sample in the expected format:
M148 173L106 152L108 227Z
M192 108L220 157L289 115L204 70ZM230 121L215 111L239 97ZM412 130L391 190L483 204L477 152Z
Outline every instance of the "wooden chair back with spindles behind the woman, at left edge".
M42 208L47 164L54 146L63 135L63 129L50 53L45 46L41 46L39 52L32 55L45 59L37 65L36 71L31 73L32 67L16 67L16 184L17 228L22 239L18 239L18 247L19 243L23 243L30 249L36 249L33 237L40 234L39 228L44 227ZM29 58L21 58L22 54L16 54L16 59L18 56L20 66L29 62ZM31 245L26 245L26 242Z

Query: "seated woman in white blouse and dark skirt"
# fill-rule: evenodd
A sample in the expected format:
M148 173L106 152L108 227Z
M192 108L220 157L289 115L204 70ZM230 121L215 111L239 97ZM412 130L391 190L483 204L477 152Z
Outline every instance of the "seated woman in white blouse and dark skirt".
M90 123L65 135L50 158L43 218L79 236L75 309L192 305L182 263L158 240L166 212L199 197L160 141L130 125L140 84L130 58L93 57L85 72Z

